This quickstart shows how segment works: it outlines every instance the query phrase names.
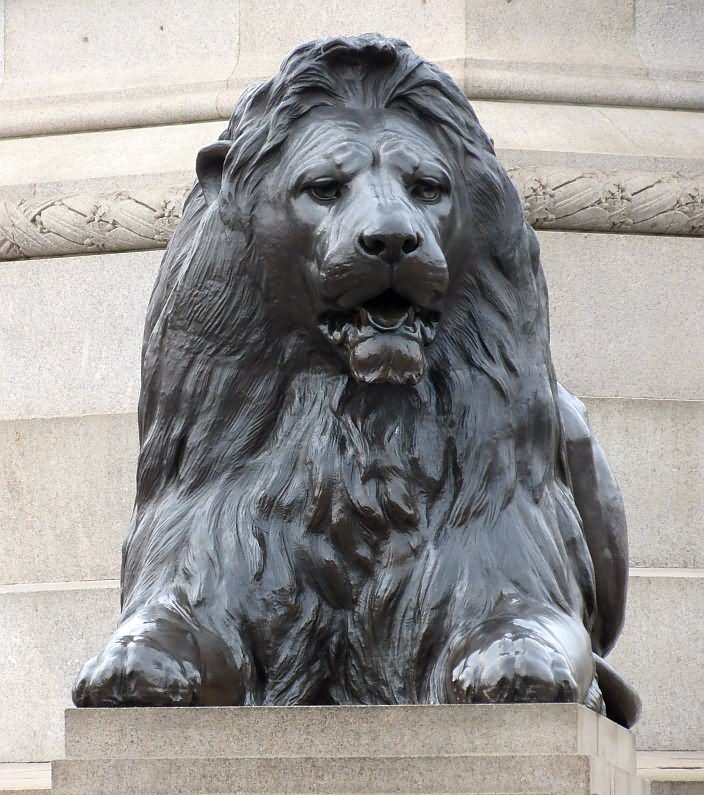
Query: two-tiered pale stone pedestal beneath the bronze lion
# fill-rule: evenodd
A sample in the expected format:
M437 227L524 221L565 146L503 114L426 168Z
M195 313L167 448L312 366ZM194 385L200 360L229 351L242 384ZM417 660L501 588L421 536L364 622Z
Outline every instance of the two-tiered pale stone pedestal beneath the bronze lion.
M56 795L645 795L631 734L573 704L68 710Z

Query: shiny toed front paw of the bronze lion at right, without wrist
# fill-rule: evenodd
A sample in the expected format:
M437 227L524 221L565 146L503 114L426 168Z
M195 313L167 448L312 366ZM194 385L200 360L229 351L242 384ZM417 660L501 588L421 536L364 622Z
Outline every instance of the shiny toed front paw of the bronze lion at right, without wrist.
M578 686L564 655L531 636L506 632L473 651L451 672L462 703L578 701Z

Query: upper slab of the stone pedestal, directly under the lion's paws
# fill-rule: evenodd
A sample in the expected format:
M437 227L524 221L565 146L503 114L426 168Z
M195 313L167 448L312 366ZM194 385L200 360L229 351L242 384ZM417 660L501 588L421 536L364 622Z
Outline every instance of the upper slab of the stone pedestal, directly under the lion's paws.
M178 753L174 753L178 749ZM635 771L630 732L575 704L69 709L70 759L588 754Z

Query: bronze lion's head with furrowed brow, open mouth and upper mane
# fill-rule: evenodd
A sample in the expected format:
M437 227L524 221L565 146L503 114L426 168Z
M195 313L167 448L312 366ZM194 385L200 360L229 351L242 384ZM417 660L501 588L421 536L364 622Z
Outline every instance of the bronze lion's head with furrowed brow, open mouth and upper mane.
M441 347L454 337L466 348L472 292L495 293L490 324L512 311L502 285L484 277L523 277L515 266L525 258L511 261L527 233L520 203L460 89L403 42L367 35L299 47L243 97L197 172L171 246L182 254L162 273L148 327L166 284L202 300L213 280L221 292L245 279L269 339L288 340L289 356L295 349L306 366L359 382L413 385L438 334ZM208 259L197 285L176 276L186 250ZM218 296L232 312L219 325L225 347L243 310L255 310L241 285L227 289L229 303ZM248 344L254 325L242 330ZM502 355L491 349L503 342L470 344L489 368Z

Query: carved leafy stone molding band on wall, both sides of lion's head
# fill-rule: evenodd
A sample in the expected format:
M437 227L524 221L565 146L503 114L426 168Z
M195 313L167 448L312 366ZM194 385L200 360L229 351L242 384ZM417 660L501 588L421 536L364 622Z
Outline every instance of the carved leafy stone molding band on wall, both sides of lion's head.
M704 174L508 171L536 229L704 236ZM0 197L0 260L163 248L189 190Z

